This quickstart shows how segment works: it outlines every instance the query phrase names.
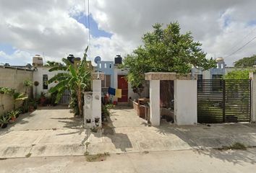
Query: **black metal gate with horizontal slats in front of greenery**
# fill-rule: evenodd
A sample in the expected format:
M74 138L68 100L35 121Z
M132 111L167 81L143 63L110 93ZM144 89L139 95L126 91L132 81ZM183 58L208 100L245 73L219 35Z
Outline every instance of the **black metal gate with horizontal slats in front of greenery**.
M250 80L197 80L198 123L249 122L250 118Z

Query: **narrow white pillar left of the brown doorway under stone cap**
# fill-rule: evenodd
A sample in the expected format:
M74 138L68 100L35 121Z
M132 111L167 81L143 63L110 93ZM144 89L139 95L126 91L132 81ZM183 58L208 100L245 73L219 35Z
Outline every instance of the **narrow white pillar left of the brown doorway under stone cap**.
M150 123L160 125L160 80L150 80Z

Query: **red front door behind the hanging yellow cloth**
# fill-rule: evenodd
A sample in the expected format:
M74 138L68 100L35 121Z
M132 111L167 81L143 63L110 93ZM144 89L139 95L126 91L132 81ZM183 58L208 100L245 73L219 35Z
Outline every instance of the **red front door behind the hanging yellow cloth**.
M128 83L124 75L117 76L117 88L121 89L121 98L118 98L118 102L128 102Z

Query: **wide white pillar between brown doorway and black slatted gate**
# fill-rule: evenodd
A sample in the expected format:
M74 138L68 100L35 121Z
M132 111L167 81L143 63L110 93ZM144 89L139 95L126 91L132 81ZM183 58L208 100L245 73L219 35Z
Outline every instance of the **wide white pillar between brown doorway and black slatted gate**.
M174 123L197 123L197 80L174 80Z

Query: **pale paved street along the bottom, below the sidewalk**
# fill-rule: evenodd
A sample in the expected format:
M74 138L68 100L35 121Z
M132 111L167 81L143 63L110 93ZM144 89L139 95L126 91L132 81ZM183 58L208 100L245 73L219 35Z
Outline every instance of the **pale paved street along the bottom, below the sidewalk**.
M127 172L127 173L254 173L256 149L248 151L158 151L111 154L106 161L88 162L85 156L30 157L0 160L0 173Z

